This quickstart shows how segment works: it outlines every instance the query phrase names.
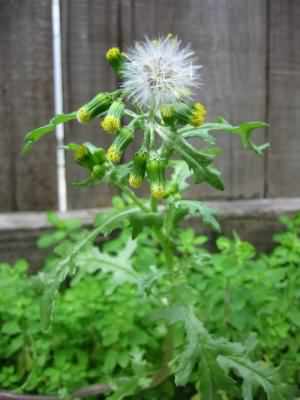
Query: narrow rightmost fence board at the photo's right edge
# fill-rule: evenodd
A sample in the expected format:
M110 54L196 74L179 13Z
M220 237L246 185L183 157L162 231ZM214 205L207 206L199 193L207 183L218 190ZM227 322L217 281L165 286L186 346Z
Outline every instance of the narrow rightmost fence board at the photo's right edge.
M300 194L300 3L270 8L268 196Z

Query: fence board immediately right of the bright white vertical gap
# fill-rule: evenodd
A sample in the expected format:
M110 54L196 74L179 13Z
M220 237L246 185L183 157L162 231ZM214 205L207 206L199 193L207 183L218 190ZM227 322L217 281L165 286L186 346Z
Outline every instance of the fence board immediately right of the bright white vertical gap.
M76 110L99 91L112 90L116 80L105 61L105 52L119 41L117 0L64 0L62 5L63 72L65 111ZM104 147L111 136L100 131L99 121L66 126L66 142L92 142ZM83 179L85 171L67 157L69 207L110 205L112 190L103 185L79 189L71 182Z

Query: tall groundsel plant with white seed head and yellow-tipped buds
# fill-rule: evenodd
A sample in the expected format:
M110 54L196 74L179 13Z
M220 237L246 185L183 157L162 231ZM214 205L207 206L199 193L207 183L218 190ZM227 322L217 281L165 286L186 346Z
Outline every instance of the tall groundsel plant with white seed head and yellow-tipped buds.
M286 399L278 371L267 362L251 360L253 338L245 345L231 343L205 329L193 306L197 293L186 279L190 266L178 246L177 228L184 219L201 217L203 223L219 229L213 210L200 201L183 198L191 184L224 189L221 173L213 165L221 150L215 134L234 134L244 148L261 155L268 145L256 145L252 134L266 124L255 121L232 125L221 117L206 122L206 108L195 98L201 93L201 67L191 48L183 46L175 36L147 38L127 52L113 47L107 51L106 60L119 78L116 90L99 92L78 110L54 116L48 125L25 137L26 152L57 124L77 120L85 125L97 120L99 142L102 135L111 135L108 149L89 142L65 146L86 171L86 179L75 184L105 182L117 188L123 199L122 207L97 218L95 229L75 243L56 268L40 274L45 328L51 317L55 318L53 305L61 284L80 270L78 257L99 235L108 235L127 224L133 240L145 232L157 240L161 265L146 272L143 266L134 270L121 261L108 263L100 253L90 254L89 262L93 271L112 274L116 285L125 281L137 285L140 295L157 309L149 318L163 321L168 329L160 367L153 371L147 354L140 355L139 368L132 376L105 382L111 387L109 398L144 398L142 394L147 390L173 377L178 386L192 385L196 396L193 398L198 400L225 400L228 395L232 399L263 399L263 392L268 399ZM125 162L124 155L137 137L140 147ZM143 193L148 187L149 195L140 197L136 190L144 182Z

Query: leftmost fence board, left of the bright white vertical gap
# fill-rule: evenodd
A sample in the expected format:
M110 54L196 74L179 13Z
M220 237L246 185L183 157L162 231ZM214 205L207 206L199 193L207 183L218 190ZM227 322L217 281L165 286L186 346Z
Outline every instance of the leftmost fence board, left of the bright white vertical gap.
M53 114L50 0L0 1L0 211L56 206L55 138L21 156Z

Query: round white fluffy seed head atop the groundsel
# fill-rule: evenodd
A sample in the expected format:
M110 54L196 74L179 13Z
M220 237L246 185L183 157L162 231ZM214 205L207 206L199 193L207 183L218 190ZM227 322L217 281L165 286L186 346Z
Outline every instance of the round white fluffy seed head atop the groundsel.
M191 47L177 37L137 42L127 52L122 88L129 100L148 109L184 101L200 84L200 65Z

